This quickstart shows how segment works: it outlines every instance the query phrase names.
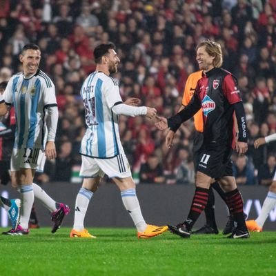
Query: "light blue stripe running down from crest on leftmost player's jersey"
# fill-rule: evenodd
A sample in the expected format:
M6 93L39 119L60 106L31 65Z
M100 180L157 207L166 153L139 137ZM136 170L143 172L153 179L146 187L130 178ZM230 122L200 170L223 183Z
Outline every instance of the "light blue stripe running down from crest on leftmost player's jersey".
M35 128L37 126L37 106L39 102L39 96L41 91L41 81L37 79L34 83L34 95L32 96L31 108L30 108L30 128L27 141L27 148L33 148Z

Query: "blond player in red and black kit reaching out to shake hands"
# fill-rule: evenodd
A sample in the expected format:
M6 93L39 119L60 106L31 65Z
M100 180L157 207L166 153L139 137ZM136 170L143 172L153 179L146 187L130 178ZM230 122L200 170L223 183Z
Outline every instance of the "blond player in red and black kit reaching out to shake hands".
M206 207L212 179L220 181L225 190L230 214L237 221L237 228L230 238L247 238L248 230L244 221L244 202L235 177L230 157L233 146L239 154L247 151L247 127L244 106L239 96L237 81L230 72L220 68L222 64L221 46L215 41L202 41L197 45L197 62L204 77L197 82L195 94L188 106L177 115L166 119L157 117L156 126L164 130L176 131L182 122L193 117L202 108L204 114L204 142L199 155L195 179L195 195L187 219L177 226L169 226L172 233L190 237L199 215ZM236 114L239 136L235 143Z

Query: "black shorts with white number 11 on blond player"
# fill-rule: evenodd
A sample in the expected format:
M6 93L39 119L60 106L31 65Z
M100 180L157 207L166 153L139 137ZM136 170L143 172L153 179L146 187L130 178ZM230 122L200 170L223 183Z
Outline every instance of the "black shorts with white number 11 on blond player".
M233 176L232 153L231 146L204 144L200 150L197 171L215 179Z

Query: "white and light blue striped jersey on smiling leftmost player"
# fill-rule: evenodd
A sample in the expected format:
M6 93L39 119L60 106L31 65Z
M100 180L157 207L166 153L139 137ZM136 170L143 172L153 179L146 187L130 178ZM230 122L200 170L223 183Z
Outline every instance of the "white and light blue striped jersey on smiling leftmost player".
M48 135L46 108L57 106L50 78L41 70L29 79L19 72L11 77L3 98L15 110L14 148L44 148Z

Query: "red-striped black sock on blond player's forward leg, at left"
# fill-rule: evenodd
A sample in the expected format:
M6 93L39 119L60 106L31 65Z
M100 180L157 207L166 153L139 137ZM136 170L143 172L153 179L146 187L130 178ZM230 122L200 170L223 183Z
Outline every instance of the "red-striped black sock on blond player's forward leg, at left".
M189 215L185 221L186 228L191 231L201 212L205 209L209 196L209 189L195 188L195 195L190 206Z

